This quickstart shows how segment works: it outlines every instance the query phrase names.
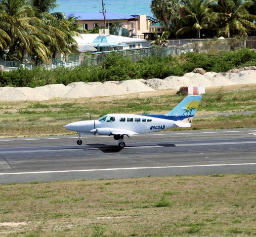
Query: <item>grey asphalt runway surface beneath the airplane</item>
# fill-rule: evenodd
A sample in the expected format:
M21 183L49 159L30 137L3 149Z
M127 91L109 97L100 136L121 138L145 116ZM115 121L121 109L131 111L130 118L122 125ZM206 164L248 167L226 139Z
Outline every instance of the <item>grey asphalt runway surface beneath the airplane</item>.
M169 131L125 137L1 138L0 183L256 173L256 128Z

